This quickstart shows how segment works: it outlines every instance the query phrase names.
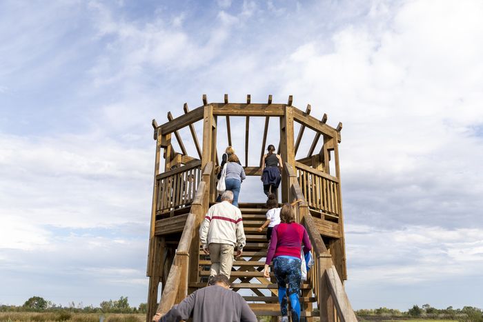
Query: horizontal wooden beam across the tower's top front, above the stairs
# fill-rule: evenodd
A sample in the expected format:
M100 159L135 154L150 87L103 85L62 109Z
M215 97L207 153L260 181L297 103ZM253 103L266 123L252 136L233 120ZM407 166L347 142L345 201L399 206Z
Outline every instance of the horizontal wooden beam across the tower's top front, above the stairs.
M260 103L210 103L213 115L233 115L237 117L281 117L284 115L285 104Z

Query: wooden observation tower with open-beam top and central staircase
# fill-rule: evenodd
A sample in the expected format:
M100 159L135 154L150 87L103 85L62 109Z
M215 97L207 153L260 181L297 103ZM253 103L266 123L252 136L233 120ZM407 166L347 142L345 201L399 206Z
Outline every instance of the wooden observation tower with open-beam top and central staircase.
M297 221L305 226L313 245L315 265L308 272L308 280L302 284L300 296L302 316L313 321L357 321L344 290L347 279L344 245L344 218L342 215L341 180L339 171L339 143L342 123L333 128L311 117L311 105L303 112L287 103L229 103L225 94L223 103L208 103L203 95L203 105L188 110L174 118L168 113L168 122L158 125L152 121L156 140L155 178L152 193L152 213L148 254L149 291L147 321L155 312L166 313L187 294L206 286L210 274L210 260L200 252L199 225L217 197L215 170L217 155L217 120L226 117L228 145L231 143L230 117L243 117L245 123L245 160L247 176L260 176L262 155L266 148L270 119L279 123L278 153L284 162L281 183L281 201L297 203ZM248 165L248 133L250 118L265 120L260 162ZM201 122L203 137L200 145L194 124ZM294 125L298 123L295 137ZM197 150L197 156L188 156L179 130L188 127ZM306 157L296 159L306 128L315 132ZM174 137L173 138L173 134ZM176 152L172 139L177 140L181 151ZM186 138L185 138L186 139ZM322 148L315 150L322 143ZM277 146L277 142L273 142ZM220 151L225 146L218 147ZM243 147L235 147L242 150ZM257 148L258 150L259 148ZM253 150L253 144L250 147ZM164 169L161 168L161 156ZM245 161L245 162L243 162ZM243 188L242 188L243 193ZM262 194L262 184L260 183ZM275 279L263 276L264 257L268 243L265 232L258 232L266 209L264 203L239 203L242 210L246 246L242 258L234 261L231 272L232 288L239 292L257 315L280 315ZM162 294L158 303L159 283Z

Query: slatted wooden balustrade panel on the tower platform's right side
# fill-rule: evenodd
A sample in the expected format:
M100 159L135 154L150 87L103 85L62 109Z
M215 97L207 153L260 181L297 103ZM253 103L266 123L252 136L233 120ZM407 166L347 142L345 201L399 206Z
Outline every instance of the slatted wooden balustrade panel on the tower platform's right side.
M299 162L295 171L308 206L339 217L339 179Z

